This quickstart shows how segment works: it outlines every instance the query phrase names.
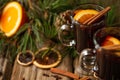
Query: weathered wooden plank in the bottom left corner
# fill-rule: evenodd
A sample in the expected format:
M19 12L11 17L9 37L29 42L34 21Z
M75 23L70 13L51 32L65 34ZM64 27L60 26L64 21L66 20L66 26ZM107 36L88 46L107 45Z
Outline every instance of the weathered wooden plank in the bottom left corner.
M0 55L0 80L10 80L12 73L12 63Z

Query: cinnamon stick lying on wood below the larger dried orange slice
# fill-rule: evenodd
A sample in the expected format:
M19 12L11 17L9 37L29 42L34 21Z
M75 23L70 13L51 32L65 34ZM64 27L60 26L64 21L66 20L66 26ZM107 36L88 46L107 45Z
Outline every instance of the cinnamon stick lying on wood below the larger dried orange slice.
M77 76L77 75L75 75L71 72L67 72L67 71L64 71L64 70L57 69L57 68L51 68L50 71L53 72L53 73L65 75L65 76L68 76L70 78L74 78L74 79L77 79L77 80L80 78L79 76Z

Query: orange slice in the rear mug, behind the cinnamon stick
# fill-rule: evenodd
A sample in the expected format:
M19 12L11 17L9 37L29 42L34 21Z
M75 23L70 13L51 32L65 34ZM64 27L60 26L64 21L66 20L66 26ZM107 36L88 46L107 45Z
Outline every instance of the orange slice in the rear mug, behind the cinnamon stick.
M74 19L80 23L83 23L87 19L91 18L92 16L98 14L98 11L93 9L86 9L86 10L80 10L76 13L74 16Z

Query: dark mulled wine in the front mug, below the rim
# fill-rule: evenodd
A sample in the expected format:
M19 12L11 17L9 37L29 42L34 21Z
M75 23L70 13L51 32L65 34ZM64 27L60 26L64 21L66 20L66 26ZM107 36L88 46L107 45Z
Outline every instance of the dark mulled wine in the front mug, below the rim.
M120 45L99 49L97 66L96 73L100 80L120 80Z

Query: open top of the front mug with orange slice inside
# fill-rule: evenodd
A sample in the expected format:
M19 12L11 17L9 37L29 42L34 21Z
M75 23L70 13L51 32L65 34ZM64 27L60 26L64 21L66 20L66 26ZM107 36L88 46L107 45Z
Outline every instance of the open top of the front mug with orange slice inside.
M106 27L96 31L93 42L96 48L120 44L120 27Z

